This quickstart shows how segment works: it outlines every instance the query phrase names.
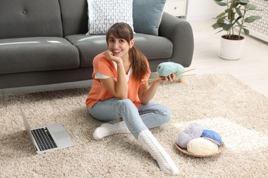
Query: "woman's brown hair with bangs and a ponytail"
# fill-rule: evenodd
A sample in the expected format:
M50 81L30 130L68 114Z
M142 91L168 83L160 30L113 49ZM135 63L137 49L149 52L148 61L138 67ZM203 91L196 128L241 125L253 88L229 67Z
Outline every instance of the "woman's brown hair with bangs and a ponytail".
M122 38L127 42L133 39L133 29L127 23L115 23L108 31L106 42L108 44L109 36L113 34L115 38ZM149 71L148 61L145 55L133 45L129 49L129 56L131 58L131 65L134 77L138 80L142 79Z

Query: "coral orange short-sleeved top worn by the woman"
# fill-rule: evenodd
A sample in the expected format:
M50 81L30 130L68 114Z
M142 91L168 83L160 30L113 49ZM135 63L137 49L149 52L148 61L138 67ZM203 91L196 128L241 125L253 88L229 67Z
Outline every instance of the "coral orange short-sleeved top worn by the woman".
M107 88L101 84L100 80L95 78L96 73L101 73L113 78L118 77L118 72L116 71L113 61L106 58L105 52L100 53L93 60L93 83L86 100L86 104L89 107L92 107L98 101L104 101L114 97L113 94L111 94L111 92L109 92L109 90L107 90ZM144 79L148 79L149 77L150 71L148 71L148 74L144 76ZM128 83L128 99L130 99L136 107L139 107L139 105L142 103L139 100L138 92L139 88L142 88L143 86L144 84L142 81L138 81L135 79L133 74L131 74Z

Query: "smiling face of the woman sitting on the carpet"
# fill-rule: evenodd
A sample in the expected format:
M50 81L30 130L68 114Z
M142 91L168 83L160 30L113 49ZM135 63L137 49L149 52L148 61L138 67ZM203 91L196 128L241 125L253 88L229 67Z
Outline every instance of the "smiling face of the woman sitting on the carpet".
M127 42L123 38L116 38L110 34L108 38L108 48L114 56L119 58L126 58L129 56L129 49L133 47L134 40Z

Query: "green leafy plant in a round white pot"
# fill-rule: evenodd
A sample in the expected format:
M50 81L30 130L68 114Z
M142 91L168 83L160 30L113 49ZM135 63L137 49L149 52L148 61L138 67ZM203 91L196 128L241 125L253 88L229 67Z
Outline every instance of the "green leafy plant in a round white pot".
M256 5L249 3L249 0L213 1L218 5L226 7L224 12L216 16L216 23L212 25L214 29L221 28L220 31L227 31L227 34L221 36L221 51L219 55L225 60L238 60L242 56L243 44L245 42L245 37L241 35L241 32L243 30L245 35L249 34L249 29L247 29L245 23L252 23L261 18L260 16L247 16L247 12L259 9Z

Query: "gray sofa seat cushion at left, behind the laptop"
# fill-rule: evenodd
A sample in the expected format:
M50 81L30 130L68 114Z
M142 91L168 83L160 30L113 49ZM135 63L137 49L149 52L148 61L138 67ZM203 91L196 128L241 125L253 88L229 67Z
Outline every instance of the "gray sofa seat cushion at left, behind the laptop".
M65 38L0 39L0 74L79 67L78 49Z

